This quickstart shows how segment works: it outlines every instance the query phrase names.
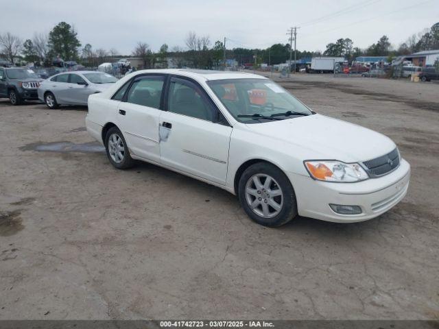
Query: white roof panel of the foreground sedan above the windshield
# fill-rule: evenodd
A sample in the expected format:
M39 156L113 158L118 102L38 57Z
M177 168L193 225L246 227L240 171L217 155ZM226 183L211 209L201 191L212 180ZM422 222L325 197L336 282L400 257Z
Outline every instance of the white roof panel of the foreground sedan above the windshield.
M246 73L241 71L214 71L214 70L199 70L199 69L152 69L152 70L140 70L135 74L145 73L166 73L183 75L186 77L192 77L202 80L224 80L224 79L267 79L261 75Z

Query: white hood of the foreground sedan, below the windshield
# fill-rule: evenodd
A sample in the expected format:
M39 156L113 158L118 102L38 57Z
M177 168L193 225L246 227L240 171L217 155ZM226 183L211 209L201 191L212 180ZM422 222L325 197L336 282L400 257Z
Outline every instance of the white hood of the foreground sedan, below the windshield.
M259 135L295 145L302 160L358 162L388 154L396 147L379 132L320 114L247 127Z

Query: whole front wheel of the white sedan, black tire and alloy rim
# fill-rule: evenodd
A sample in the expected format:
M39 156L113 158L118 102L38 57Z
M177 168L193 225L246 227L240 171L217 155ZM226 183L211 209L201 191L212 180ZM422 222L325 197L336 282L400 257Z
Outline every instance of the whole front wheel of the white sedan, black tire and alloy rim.
M275 228L296 217L294 188L287 175L273 164L252 164L241 175L238 186L239 202L255 222Z

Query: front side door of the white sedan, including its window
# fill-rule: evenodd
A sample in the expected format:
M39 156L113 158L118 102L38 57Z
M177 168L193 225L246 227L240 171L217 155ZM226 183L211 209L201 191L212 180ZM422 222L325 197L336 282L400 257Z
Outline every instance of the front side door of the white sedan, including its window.
M232 127L216 122L209 96L195 82L171 77L166 107L160 117L161 162L225 184Z

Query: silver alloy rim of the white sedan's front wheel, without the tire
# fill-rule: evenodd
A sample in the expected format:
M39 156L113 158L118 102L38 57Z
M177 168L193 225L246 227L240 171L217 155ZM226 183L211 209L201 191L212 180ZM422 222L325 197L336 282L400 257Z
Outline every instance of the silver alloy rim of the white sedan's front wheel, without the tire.
M278 215L283 208L283 192L270 175L252 175L246 184L246 200L252 211L264 218Z

